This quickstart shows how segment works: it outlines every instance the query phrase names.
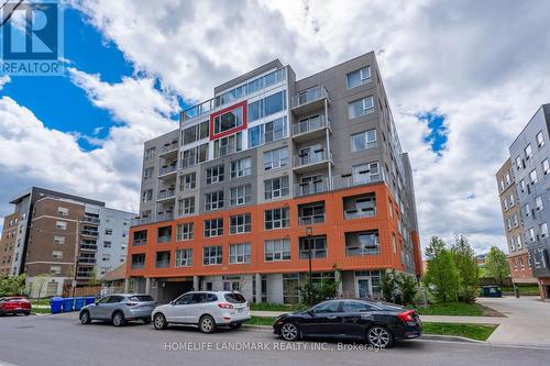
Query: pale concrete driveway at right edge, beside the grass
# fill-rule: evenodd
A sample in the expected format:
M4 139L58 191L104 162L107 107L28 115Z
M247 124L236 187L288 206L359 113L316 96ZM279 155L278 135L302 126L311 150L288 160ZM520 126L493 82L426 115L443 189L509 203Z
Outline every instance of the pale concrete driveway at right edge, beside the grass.
M550 302L539 297L481 298L477 302L493 308L507 318L488 337L498 345L550 346Z

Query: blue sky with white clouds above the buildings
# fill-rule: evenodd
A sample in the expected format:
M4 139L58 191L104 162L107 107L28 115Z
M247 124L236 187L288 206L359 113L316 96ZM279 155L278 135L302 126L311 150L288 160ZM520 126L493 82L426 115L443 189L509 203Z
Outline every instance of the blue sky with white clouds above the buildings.
M153 5L154 4L154 5ZM495 173L550 102L544 0L63 0L66 75L0 76L0 215L38 186L138 211L143 143L274 58L297 78L374 51L422 246L506 248Z

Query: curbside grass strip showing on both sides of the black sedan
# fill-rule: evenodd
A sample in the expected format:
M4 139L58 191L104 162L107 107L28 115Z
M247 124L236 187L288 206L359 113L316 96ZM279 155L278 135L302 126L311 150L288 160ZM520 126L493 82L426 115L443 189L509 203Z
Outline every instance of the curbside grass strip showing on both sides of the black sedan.
M252 317L246 323L251 325L272 326L275 318ZM486 341L498 325L460 324L460 323L422 323L424 333L438 335L458 335L476 341Z

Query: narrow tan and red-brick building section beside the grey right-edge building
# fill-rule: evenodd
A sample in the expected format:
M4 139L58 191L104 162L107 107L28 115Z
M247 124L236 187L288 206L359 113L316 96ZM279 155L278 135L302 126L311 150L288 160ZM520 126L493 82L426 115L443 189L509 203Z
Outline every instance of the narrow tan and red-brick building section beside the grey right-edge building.
M521 204L519 203L516 179L514 178L509 158L496 173L496 182L501 198L504 231L508 244L508 264L512 280L516 284L536 284L537 279L532 277L527 245L525 245Z

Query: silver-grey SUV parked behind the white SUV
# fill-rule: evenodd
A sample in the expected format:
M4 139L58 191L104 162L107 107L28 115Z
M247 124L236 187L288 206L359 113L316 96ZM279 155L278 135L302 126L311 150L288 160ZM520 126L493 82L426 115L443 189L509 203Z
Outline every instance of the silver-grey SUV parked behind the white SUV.
M155 299L148 295L114 293L80 309L79 318L82 324L89 324L92 320L111 321L114 326L132 320L150 323L155 306Z

